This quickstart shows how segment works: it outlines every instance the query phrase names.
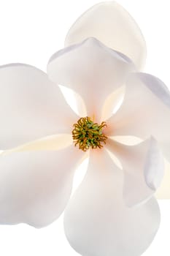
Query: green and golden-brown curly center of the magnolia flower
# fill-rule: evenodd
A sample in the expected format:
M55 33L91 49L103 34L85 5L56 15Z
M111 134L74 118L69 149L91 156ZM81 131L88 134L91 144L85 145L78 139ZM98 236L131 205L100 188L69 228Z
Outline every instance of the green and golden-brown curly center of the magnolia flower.
M82 151L87 151L89 148L102 148L101 143L106 144L107 136L103 134L103 129L107 124L104 121L98 125L87 116L80 118L73 127L72 137L75 146L79 145Z

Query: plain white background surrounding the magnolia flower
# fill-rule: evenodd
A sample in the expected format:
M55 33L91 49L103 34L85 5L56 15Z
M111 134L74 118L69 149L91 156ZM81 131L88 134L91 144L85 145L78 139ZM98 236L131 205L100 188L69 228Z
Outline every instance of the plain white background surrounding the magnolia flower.
M117 1L134 16L147 41L145 71L161 78L170 88L169 0ZM98 2L0 0L0 64L23 62L45 70L50 56L63 48L66 32L74 20ZM159 203L161 228L144 256L170 255L170 202ZM0 255L76 256L77 253L66 241L61 217L41 230L27 225L0 226Z

